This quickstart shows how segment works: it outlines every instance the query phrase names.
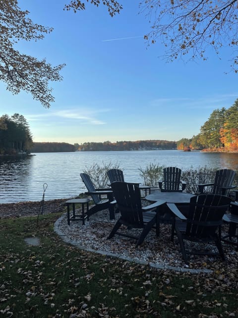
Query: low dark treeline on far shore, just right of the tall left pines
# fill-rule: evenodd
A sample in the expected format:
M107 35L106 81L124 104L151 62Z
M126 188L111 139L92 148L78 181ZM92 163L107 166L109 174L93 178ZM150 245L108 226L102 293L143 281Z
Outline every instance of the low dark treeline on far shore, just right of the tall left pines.
M33 143L32 153L63 153L73 152L75 147L67 143Z

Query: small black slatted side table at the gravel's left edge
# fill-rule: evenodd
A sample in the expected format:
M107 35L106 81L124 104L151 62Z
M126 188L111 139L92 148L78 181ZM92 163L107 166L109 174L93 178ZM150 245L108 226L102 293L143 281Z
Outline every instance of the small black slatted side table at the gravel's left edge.
M66 201L67 206L67 221L68 225L70 225L70 221L82 221L83 225L85 224L85 219L89 220L88 218L88 203L90 199L70 199ZM70 205L72 204L72 215L70 216ZM82 213L75 214L75 204L81 204ZM85 204L86 204L86 213L85 213Z

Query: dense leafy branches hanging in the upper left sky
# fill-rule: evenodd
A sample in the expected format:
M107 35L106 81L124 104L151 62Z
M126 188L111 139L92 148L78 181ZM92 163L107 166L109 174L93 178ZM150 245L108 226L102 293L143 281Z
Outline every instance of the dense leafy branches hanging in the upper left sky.
M24 90L49 108L54 101L49 81L62 79L59 72L64 64L53 67L45 59L39 61L14 48L20 40L38 41L53 30L33 23L28 14L18 7L17 0L0 1L0 80L13 94Z

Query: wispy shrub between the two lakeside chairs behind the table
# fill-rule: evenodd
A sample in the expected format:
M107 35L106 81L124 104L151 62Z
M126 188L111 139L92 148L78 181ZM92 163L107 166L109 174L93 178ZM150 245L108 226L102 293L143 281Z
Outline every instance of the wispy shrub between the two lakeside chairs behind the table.
M158 187L159 180L163 179L163 169L164 165L159 165L156 163L149 163L145 169L139 167L140 176L144 178L145 185L152 187Z

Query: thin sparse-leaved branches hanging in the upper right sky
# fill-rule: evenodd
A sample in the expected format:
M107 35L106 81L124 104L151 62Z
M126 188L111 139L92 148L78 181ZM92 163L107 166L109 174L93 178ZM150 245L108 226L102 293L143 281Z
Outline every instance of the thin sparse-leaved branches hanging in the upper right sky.
M209 47L217 54L231 49L231 68L238 72L238 0L144 0L140 6L151 22L148 44L161 40L165 56L173 61L208 58ZM232 56L233 54L233 56Z

